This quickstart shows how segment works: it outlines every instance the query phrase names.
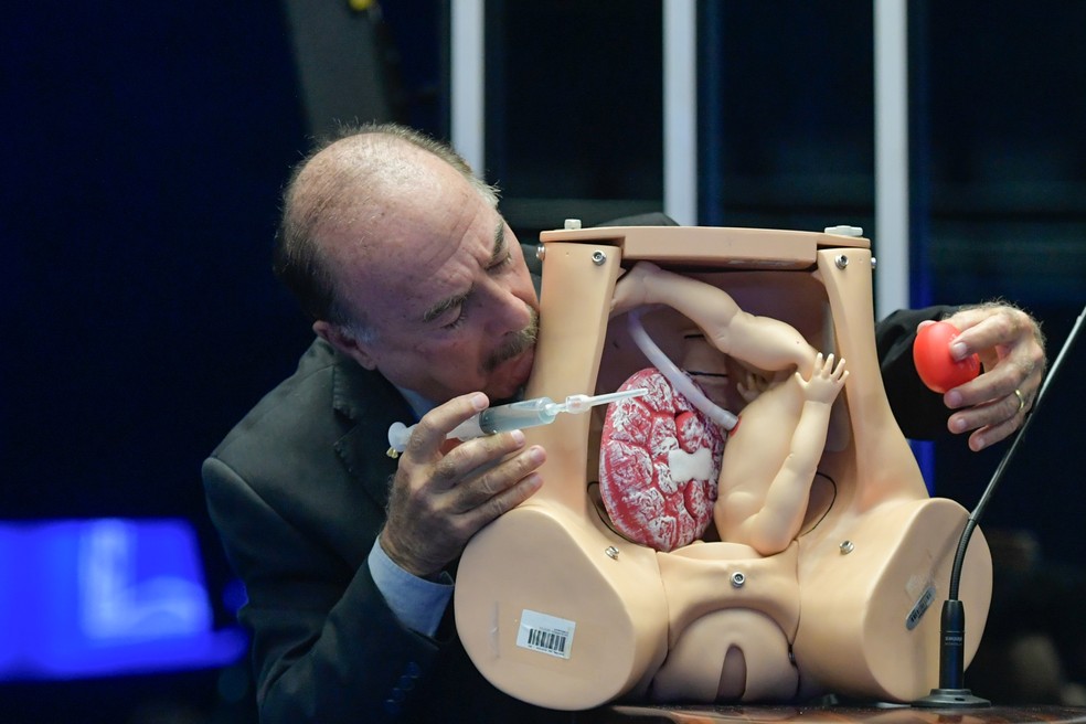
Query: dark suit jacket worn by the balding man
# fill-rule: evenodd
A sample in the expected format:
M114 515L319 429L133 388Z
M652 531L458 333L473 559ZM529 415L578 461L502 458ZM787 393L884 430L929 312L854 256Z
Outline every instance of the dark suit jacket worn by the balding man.
M888 385L918 384L912 331L944 311L901 312L880 327ZM925 395L909 390L895 414L915 430L930 412L912 414ZM491 686L450 616L440 640L405 629L373 583L365 561L396 466L387 430L412 417L380 374L317 340L204 462L211 517L248 593L241 619L253 634L262 722L573 721ZM941 419L928 427L945 425L946 411Z

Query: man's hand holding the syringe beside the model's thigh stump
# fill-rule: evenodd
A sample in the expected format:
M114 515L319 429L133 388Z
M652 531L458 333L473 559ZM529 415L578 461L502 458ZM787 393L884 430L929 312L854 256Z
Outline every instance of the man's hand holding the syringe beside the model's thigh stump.
M415 426L400 457L381 547L408 573L438 573L480 529L543 485L536 469L546 453L537 445L523 449L520 430L448 449L449 430L488 405L485 394L473 393L435 407Z

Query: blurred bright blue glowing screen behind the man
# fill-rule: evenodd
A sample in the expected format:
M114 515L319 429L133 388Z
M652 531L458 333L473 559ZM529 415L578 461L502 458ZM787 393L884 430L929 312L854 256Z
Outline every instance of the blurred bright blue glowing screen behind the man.
M180 520L0 524L0 680L233 663L213 630L195 535Z

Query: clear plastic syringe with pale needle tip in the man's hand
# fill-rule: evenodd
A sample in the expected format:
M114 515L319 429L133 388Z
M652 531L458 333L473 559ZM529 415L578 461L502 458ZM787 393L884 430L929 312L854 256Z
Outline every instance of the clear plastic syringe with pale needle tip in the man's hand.
M606 405L616 400L628 397L640 397L649 392L648 387L636 387L634 390L622 390L604 395L569 395L565 402L557 403L550 397L535 397L513 402L508 405L488 407L481 413L460 423L447 435L448 438L458 440L470 440L483 435L494 433L508 433L509 430L523 429L525 427L536 427L539 425L550 425L558 413L572 413L579 415L596 405ZM403 423L393 423L388 428L388 446L391 451L403 453L407 447L415 426L411 427Z

